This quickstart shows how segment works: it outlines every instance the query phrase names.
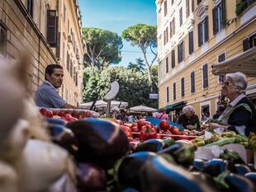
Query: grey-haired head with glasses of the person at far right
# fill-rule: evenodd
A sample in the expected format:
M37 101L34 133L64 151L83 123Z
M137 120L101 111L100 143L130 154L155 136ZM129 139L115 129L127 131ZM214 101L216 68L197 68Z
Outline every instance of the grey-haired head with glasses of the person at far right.
M225 75L225 82L222 83L221 92L224 96L235 98L241 93L245 93L247 78L244 73L228 73Z

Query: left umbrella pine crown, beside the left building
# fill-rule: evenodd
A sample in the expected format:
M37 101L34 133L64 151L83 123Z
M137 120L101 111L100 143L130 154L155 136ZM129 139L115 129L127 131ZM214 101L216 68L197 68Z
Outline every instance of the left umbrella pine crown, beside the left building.
M87 49L84 54L85 66L102 70L121 61L119 51L122 48L122 40L119 35L110 30L90 27L83 28L82 32Z

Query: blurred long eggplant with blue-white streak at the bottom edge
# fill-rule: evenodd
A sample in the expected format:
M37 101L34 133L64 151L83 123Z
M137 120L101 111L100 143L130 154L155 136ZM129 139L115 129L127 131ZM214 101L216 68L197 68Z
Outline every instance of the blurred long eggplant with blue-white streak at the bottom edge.
M142 192L214 192L206 182L163 157L148 160L140 171Z

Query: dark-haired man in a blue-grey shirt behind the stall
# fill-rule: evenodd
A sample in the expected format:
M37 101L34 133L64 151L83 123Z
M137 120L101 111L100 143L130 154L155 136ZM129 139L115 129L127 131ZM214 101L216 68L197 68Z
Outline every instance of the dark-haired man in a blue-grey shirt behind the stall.
M74 105L68 104L62 99L57 90L62 86L64 70L59 64L50 64L45 68L45 82L36 91L36 105L46 108L72 108Z

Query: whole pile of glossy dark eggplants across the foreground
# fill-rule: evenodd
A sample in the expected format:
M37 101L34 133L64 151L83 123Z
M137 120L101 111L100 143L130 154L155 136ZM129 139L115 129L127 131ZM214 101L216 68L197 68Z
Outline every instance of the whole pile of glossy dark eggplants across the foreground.
M188 141L154 138L132 146L120 125L106 120L50 124L55 143L77 164L80 192L256 191L254 167L235 152L205 161L195 159L197 146Z

